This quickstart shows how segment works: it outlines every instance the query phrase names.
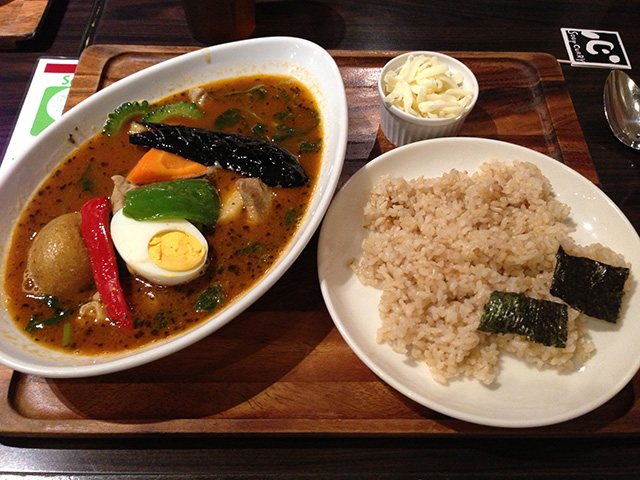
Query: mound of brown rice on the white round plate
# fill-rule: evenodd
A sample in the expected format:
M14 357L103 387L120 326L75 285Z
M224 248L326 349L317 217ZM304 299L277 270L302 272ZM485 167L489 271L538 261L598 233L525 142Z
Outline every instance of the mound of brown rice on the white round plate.
M569 213L531 163L490 161L472 175L383 178L365 207L369 235L352 265L364 285L382 290L377 341L426 362L441 383L473 377L491 384L501 350L538 368L575 370L594 346L584 315L571 308L562 349L477 331L494 290L559 301L549 294L559 245L624 264L601 245L576 245Z

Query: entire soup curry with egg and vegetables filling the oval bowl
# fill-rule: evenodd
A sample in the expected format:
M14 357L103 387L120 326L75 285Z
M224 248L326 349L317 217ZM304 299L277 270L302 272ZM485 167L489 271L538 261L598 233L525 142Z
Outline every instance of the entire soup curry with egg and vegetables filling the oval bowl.
M189 330L286 250L322 135L311 92L281 75L115 108L24 209L4 261L9 313L34 341L81 355Z

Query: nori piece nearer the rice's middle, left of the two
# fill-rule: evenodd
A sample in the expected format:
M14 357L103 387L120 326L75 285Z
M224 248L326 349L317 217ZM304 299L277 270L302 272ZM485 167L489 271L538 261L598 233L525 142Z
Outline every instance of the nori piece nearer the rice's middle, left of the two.
M532 342L564 348L567 306L530 298L522 293L493 292L484 306L478 330L515 333Z

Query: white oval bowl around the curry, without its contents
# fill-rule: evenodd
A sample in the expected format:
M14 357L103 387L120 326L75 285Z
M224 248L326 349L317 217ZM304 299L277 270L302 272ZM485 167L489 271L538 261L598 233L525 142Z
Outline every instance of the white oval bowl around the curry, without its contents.
M0 363L44 377L69 378L125 370L177 352L215 332L262 296L291 266L316 231L335 191L347 146L347 101L338 66L307 40L270 37L203 48L137 72L92 95L47 128L28 150L0 173L2 258L23 206L67 155L99 132L115 107L131 100L156 100L190 86L253 74L288 74L315 95L324 119L324 148L318 185L308 213L287 251L240 299L187 332L113 355L80 356L54 351L28 338L0 307ZM69 142L73 135L75 143ZM11 226L11 228L8 228ZM3 277L4 278L4 277ZM4 296L4 292L2 291Z

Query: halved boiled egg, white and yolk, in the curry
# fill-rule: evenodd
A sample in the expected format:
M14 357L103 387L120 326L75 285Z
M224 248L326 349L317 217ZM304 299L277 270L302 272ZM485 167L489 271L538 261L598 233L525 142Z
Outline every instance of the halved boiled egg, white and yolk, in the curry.
M187 220L139 221L121 209L111 219L111 238L127 267L152 283L186 283L206 266L207 240Z

